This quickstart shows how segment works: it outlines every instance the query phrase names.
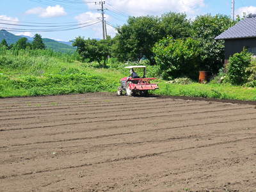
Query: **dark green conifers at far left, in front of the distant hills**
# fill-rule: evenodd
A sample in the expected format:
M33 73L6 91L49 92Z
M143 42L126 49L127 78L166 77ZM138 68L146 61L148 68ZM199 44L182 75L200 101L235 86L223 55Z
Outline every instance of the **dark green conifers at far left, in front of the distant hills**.
M22 37L20 38L15 44L8 45L6 40L3 39L1 44L1 47L6 47L6 49L45 49L46 46L42 40L42 36L39 34L36 34L34 37L33 42L29 43L28 38Z

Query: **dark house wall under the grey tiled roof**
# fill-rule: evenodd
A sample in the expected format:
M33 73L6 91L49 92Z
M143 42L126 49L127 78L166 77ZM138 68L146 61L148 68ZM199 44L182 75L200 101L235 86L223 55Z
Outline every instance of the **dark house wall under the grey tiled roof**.
M243 51L244 47L256 55L256 38L225 40L225 60L228 60L233 54Z

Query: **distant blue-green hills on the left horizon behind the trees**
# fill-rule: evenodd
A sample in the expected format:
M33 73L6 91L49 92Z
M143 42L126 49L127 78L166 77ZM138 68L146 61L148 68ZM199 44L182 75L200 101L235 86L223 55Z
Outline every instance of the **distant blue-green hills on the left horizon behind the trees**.
M17 36L17 35L13 35L12 33L9 33L8 31L0 30L0 42L3 39L5 39L8 45L15 44L15 42L17 42L22 37L28 38L28 42L30 42L30 43L33 41L33 38L31 38L30 36L24 36L24 35ZM76 51L75 47L68 45L69 42L65 42L66 44L64 44L64 42L58 42L58 41L52 40L50 38L43 38L43 42L48 49L52 49L54 51L60 51L60 52ZM72 43L70 42L70 44L72 44Z

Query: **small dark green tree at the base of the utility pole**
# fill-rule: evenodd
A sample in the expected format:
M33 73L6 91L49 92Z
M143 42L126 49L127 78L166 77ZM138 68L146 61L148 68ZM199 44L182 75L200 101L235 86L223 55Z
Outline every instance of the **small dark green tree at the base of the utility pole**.
M106 40L99 41L90 38L84 40L79 36L72 45L77 47L77 52L82 56L83 60L97 61L100 67L106 67L106 61L111 54L112 45L112 40L109 36Z

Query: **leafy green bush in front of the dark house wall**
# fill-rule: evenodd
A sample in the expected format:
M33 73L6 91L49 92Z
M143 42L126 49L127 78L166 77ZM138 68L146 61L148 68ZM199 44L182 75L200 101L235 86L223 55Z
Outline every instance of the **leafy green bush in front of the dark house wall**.
M246 68L250 66L252 54L246 50L236 53L229 58L227 67L228 81L232 84L244 84L248 79Z

